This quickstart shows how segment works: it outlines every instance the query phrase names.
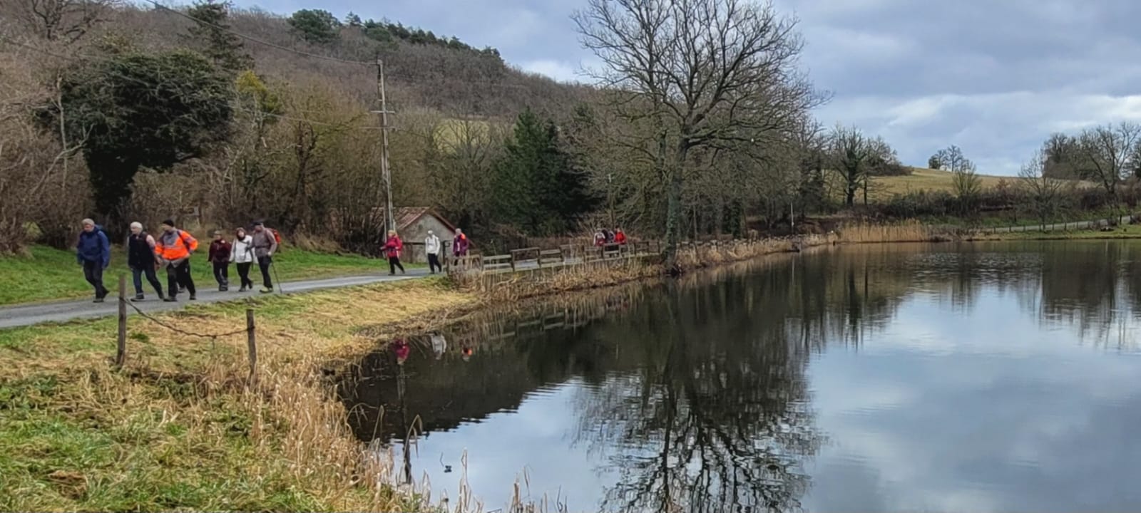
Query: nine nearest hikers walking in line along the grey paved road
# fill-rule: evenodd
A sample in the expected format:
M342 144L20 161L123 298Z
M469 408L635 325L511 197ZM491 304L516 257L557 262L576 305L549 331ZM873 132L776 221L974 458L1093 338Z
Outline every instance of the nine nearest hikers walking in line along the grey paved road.
M75 244L75 259L83 267L83 277L95 288L95 302L102 303L108 293L107 287L103 284L103 271L111 264L111 242L103 227L96 225L94 220L84 219L82 225L83 230L80 231L79 241ZM189 233L176 228L175 221L170 219L162 221L160 228L161 233L153 236L144 229L143 223L136 221L130 225L131 235L127 239L127 266L131 269L135 285L135 296L131 298L131 301L146 299L143 293L144 277L162 301L178 301L178 293L184 291L189 293L191 301L195 301L197 290L194 286L194 277L191 275L191 254L197 251L199 242ZM261 270L261 292L273 292L274 283L270 278L270 267L280 243L281 238L277 231L266 228L261 221L254 222L250 231L241 227L235 229L233 239L227 239L221 230L215 230L207 261L213 266L218 291L229 290L230 263L237 267L241 280L238 292L252 291L254 284L250 279L250 268L256 262ZM466 256L470 245L463 230L456 229L455 237L452 239L452 254L456 258ZM440 264L440 249L439 237L428 230L428 236L424 238L424 252L428 255L431 274L444 269ZM403 241L395 230L389 230L382 252L388 258L390 275L395 275L397 268L400 269L402 274L404 272L404 264L400 263L403 251ZM165 293L163 293L162 284L155 275L159 269L163 268L167 270Z

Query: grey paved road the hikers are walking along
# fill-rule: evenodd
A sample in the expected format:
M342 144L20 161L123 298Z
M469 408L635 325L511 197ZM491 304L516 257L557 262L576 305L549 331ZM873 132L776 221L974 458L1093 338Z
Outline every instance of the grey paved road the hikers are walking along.
M286 282L284 286L278 286L278 292L292 294L294 292L308 292L316 291L321 288L334 288L334 287L350 287L356 285L366 285L371 283L379 282L398 282L402 279L422 278L428 275L427 269L408 269L407 275L388 276L385 275L370 275L370 276L349 276L342 278L329 278L329 279L309 279L304 282ZM118 275L108 274L106 278L110 280L118 280ZM236 292L237 288L230 288L229 292L218 292L217 285L213 282L209 284L199 284L200 290L197 294L197 301L189 301L187 294L179 294L177 303L167 303L159 301L159 299L153 295L154 291L147 285L147 299L135 303L140 310L146 312L152 311L163 311L163 310L175 310L183 308L186 304L193 303L216 303L219 301L233 301L241 298L252 298L261 295L257 291L253 292ZM91 300L83 301L62 301L52 303L39 303L39 304L26 304L17 307L0 307L0 329L10 328L16 326L31 326L33 324L40 323L62 323L72 319L83 319L83 318L95 318L95 317L107 317L119 314L119 306L116 304L115 294L118 293L116 285L112 285L112 295L107 298L105 303L92 303ZM127 282L127 291L129 295L135 295L135 287L130 283L130 277ZM128 309L129 312L133 314L133 310Z

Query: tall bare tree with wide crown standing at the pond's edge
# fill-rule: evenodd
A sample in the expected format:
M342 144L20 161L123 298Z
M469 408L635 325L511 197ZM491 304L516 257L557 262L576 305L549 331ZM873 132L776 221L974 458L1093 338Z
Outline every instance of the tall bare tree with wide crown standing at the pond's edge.
M760 149L820 99L796 67L795 19L747 0L589 0L574 19L602 63L594 78L630 92L614 107L656 127L648 152L666 184L672 267L690 152Z

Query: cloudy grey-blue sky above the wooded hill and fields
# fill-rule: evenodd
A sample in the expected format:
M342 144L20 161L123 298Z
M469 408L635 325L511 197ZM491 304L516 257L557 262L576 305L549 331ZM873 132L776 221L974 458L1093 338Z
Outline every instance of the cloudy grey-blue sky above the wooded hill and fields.
M519 68L585 80L570 15L586 0L237 0L289 14L388 18L491 46ZM1135 0L774 0L801 64L832 100L825 125L883 136L905 164L957 145L985 174L1013 176L1055 131L1141 121Z

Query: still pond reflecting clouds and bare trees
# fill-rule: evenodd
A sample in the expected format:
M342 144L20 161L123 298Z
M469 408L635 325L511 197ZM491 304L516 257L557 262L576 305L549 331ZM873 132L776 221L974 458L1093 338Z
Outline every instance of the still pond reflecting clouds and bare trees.
M850 246L488 312L343 394L485 511L1141 511L1139 316L1136 243Z

